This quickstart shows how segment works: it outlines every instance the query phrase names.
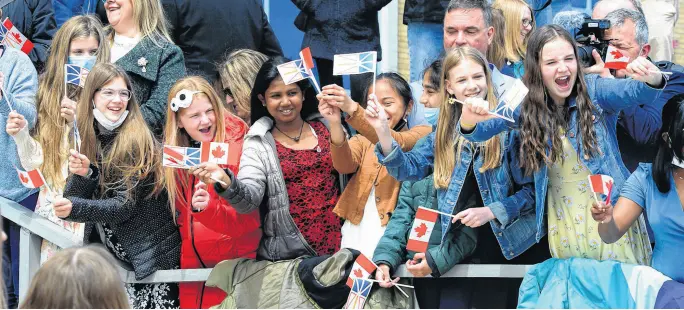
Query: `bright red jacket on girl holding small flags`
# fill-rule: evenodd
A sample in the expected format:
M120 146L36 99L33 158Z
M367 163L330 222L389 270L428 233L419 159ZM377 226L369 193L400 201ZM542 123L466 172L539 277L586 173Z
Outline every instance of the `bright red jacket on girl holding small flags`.
M242 142L248 130L247 124L232 114L225 117L226 138L230 143L230 158L238 158L242 153ZM228 165L234 173L238 165ZM212 186L207 188L211 197L209 206L201 212L192 211L190 203L199 179L185 174L192 186L181 188L178 194L185 202L176 199L179 211L181 269L212 268L219 262L233 258L255 258L261 239L261 223L258 211L239 214L221 198ZM217 288L204 287L204 283L180 284L181 309L209 308L223 301L225 293Z

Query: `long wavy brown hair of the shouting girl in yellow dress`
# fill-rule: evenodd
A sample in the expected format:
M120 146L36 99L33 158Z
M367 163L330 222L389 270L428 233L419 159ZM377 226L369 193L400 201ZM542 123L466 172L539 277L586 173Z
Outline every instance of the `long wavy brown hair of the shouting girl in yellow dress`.
M521 113L521 150L520 162L526 174L530 175L539 171L543 165L552 164L561 159L563 144L557 134L559 128L568 128L570 114L568 101L558 106L553 100L547 98L546 87L541 73L541 52L547 43L562 39L573 46L575 59L577 58L577 46L570 34L558 25L546 25L535 31L530 36L525 56L525 75L523 82L530 89L522 104ZM597 139L594 132L592 116L595 107L587 93L587 84L584 81L584 73L577 62L577 77L570 98L575 97L578 111L578 139L584 153L590 156L596 155ZM551 149L549 150L549 141Z

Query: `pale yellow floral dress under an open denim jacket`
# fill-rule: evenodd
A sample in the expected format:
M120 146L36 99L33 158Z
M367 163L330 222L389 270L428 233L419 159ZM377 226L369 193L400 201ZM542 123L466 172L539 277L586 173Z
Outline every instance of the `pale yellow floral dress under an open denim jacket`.
M562 130L561 130L561 134ZM651 245L643 221L637 221L620 240L606 244L591 217L594 195L591 172L563 135L562 160L549 166L547 191L549 247L554 258L581 257L650 265Z

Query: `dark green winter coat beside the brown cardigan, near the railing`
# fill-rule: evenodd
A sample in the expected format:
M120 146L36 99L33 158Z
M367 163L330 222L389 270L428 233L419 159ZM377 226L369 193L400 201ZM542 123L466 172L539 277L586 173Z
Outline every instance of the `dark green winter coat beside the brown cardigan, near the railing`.
M475 201L469 201L464 209L454 209L454 214L475 205ZM432 210L438 209L437 190L432 175L417 182L402 183L397 207L387 224L385 234L373 253L373 261L377 265L385 264L394 273L399 265L413 258L415 252L406 250L406 242L413 226L416 210L420 206ZM442 228L437 223L430 235L428 250L425 253L433 277L442 276L456 264L468 258L475 252L477 245L475 229L467 226L451 225L444 243L440 242L441 236Z

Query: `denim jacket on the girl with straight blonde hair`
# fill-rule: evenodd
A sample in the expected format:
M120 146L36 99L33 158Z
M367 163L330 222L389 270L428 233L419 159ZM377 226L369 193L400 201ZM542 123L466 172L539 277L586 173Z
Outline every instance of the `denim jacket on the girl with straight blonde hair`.
M502 253L507 259L513 259L526 251L535 243L534 198L531 179L527 183L514 176L521 172L511 173L509 134L502 133L501 165L480 173L484 156L473 144L466 143L451 175L448 188L437 190L439 210L453 214L456 201L460 197L466 174L470 165L482 195L484 205L494 213L496 220L490 221L494 234L499 241ZM388 156L382 154L380 145L376 146L378 162L387 167L390 175L399 181L417 181L430 175L434 166L435 133L418 142L410 152L403 152L396 141L392 142L392 152ZM513 168L516 169L516 168ZM509 212L514 211L514 213ZM440 216L442 238L449 231L451 217Z

